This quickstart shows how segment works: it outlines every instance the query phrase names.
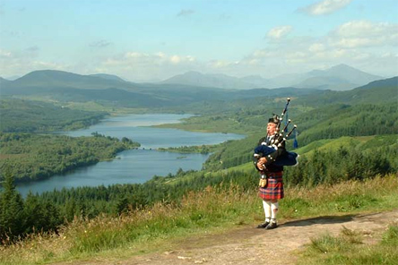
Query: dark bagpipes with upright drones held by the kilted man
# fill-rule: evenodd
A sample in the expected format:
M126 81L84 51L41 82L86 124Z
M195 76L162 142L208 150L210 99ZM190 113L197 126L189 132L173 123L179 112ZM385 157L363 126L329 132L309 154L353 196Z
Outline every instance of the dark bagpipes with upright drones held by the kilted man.
M284 128L281 130L281 123L283 117L287 114L290 98L287 98L287 102L281 116L273 114L273 118L269 120L270 123L276 124L275 133L271 136L271 141L266 142L266 137L262 138L255 148L254 164L255 168L259 171L264 171L270 164L275 166L296 166L298 164L297 158L299 155L295 152L285 150L285 142L289 139L291 133L295 132L297 125L294 124L293 128L288 132L288 127L291 124L291 120L288 119ZM283 133L287 133L284 135ZM296 131L297 135L297 131ZM295 137L295 145L297 140Z

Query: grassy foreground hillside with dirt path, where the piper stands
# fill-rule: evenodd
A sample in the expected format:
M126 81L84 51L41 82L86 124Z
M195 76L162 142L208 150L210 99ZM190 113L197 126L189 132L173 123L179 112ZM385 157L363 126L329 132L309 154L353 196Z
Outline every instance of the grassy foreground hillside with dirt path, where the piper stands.
M247 192L237 185L208 186L189 193L180 206L163 202L117 217L75 218L57 234L0 248L0 264L243 265L275 255L281 255L276 264L308 264L308 255L298 251L307 252L308 243L325 239L329 241L322 246L328 251L309 255L315 260L311 264L323 264L334 255L362 264L369 254L394 264L398 235L389 233L396 231L398 218L394 175L314 189L288 187L280 204L281 226L272 231L255 228L264 213L254 185ZM342 235L346 244L333 248ZM275 237L280 246L264 253L269 238Z

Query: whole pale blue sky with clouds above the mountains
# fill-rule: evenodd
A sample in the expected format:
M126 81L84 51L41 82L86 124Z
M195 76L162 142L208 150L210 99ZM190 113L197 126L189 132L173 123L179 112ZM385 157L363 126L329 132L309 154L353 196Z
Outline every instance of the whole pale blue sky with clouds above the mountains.
M398 0L0 0L0 76L398 75Z

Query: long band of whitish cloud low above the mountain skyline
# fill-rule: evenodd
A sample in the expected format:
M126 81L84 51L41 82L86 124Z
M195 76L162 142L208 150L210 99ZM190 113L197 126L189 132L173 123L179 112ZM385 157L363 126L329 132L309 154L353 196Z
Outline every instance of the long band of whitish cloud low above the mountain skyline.
M32 56L29 51L36 50L35 47L21 51L0 48L0 73L11 76L40 69L58 69L81 74L113 73L131 81L160 81L188 71L235 76L260 74L270 78L336 64L349 64L383 76L398 73L397 24L347 21L325 32L324 36L289 36L289 41L284 41L291 30L291 26L270 30L264 48L253 50L238 61L237 58L228 60L216 56L212 60L203 60L190 55L132 50L114 56L89 55L82 60L84 64L65 64L58 58L45 60Z

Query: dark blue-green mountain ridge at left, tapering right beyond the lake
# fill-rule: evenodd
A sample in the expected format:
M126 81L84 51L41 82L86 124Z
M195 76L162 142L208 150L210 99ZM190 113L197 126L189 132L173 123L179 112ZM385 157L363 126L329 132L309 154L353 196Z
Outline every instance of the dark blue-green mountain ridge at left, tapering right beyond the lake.
M194 73L195 74L195 73ZM219 75L220 76L220 75ZM219 77L218 76L218 77ZM108 77L108 76L106 76ZM221 76L225 81L228 77ZM232 78L234 81L236 78ZM257 97L294 97L314 90L226 90L173 83L133 83L115 78L61 71L35 71L16 81L2 81L0 95L51 98L59 102L97 101L118 107L171 107L194 102ZM243 81L242 81L243 82Z

